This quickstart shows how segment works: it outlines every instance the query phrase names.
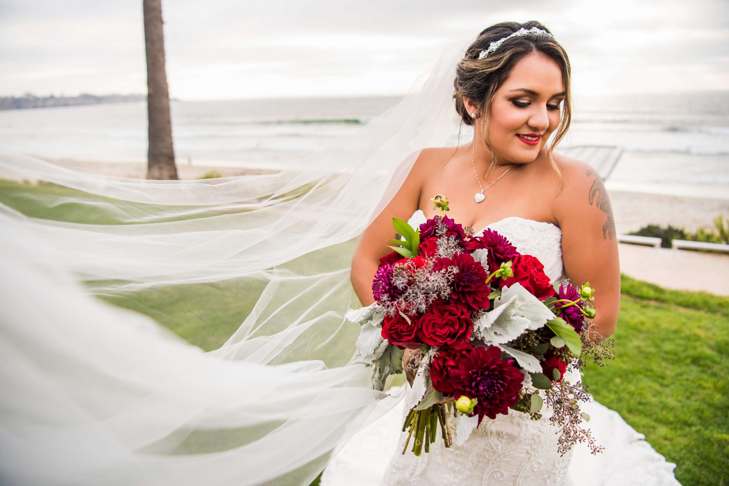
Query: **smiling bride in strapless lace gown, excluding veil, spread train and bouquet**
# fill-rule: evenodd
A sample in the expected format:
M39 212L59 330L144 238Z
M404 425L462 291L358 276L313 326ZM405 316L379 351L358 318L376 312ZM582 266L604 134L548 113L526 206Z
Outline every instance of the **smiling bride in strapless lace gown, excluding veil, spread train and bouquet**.
M520 28L529 33L514 35ZM473 140L421 151L402 188L364 231L351 274L363 305L374 301L370 282L387 250L391 218L424 223L435 215L429 198L445 194L450 218L477 233L499 231L519 252L539 258L553 282L566 276L599 289L595 323L602 335L615 330L620 272L607 192L588 164L547 146L554 132L559 140L566 131L561 115L569 81L566 52L544 26L500 23L478 34L456 69L453 93L457 113L475 126ZM438 442L425 457L394 451L386 478L391 485L566 484L570 455L557 453L554 432L546 420L510 410L453 450Z

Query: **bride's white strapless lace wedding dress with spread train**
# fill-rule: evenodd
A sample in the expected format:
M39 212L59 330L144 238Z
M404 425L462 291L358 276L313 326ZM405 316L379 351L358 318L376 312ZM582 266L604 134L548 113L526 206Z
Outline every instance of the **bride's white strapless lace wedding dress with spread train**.
M417 227L425 220L417 210L408 223ZM518 252L539 258L552 282L564 278L558 226L512 216L487 228L509 239ZM564 379L579 381L579 370L569 371ZM485 418L461 446L446 449L439 436L429 453L418 457L408 447L402 454L408 438L402 423L419 399L410 395L410 386L404 386L402 407L351 439L324 470L322 486L569 486L586 479L592 485L679 484L673 474L675 464L666 462L617 412L594 401L582 404L582 410L590 415L585 427L605 447L598 455L590 455L586 445L580 444L560 457L558 429L548 421L551 409L546 405L542 420L532 421L526 413L509 410L495 420ZM399 387L389 391L401 392ZM454 440L458 431L455 434Z

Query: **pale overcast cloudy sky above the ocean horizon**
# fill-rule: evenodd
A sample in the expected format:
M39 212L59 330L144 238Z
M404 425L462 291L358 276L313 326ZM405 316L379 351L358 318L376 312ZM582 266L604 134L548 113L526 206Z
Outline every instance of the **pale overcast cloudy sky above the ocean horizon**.
M146 92L141 0L0 0L0 96ZM727 89L729 1L163 1L172 97L402 94L447 41L539 20L576 95Z

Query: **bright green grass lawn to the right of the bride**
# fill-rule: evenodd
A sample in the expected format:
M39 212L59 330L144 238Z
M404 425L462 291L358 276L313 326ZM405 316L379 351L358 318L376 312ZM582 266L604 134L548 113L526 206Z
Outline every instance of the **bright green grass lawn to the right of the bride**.
M615 361L585 382L683 485L729 485L729 298L622 276Z

